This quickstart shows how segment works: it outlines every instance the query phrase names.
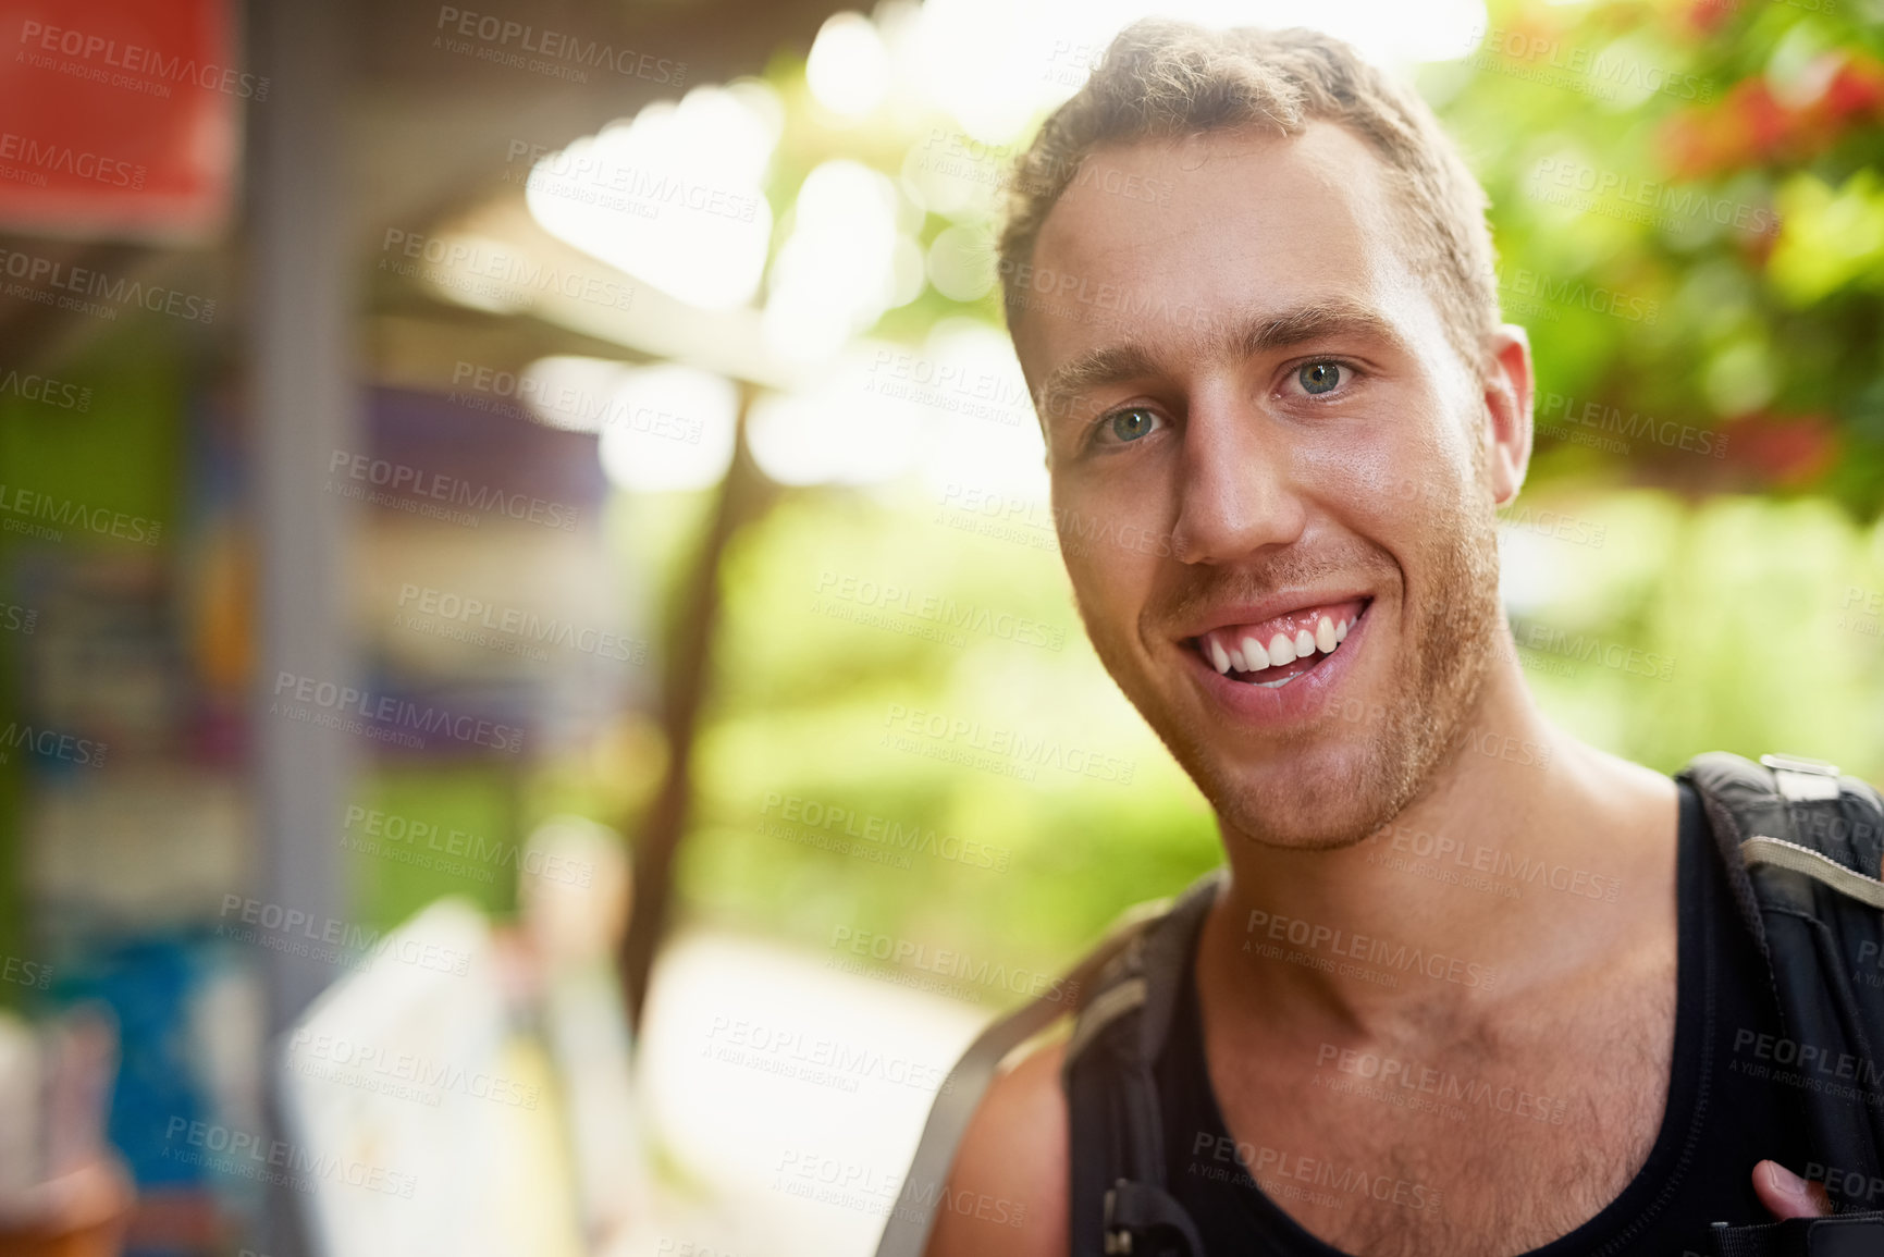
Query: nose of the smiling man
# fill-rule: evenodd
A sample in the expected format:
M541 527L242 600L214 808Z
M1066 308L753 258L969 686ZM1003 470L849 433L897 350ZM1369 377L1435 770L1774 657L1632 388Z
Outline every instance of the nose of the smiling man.
M1194 398L1178 460L1172 554L1234 563L1296 541L1307 520L1291 473L1291 433L1234 396Z

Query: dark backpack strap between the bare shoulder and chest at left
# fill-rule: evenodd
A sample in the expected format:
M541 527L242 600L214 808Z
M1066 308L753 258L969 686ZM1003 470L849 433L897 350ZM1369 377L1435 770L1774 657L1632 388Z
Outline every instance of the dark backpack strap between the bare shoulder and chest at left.
M1074 1023L1061 1078L1070 1146L1070 1249L1170 1251L1204 1257L1183 1206L1164 1189L1164 1123L1155 1065L1170 1035L1183 974L1223 871L1196 884L1098 974Z

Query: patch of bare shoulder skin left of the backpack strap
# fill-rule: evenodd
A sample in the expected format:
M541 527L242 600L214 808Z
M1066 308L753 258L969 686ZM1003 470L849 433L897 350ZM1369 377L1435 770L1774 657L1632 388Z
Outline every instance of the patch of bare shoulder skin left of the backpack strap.
M1066 1257L1064 1044L1000 1074L968 1121L927 1257Z

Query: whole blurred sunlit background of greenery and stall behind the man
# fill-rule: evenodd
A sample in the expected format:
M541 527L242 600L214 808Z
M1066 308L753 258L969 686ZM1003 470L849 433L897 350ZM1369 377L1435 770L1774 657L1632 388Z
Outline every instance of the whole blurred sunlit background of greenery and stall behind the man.
M0 1253L870 1251L1217 861L993 253L1145 13L1464 145L1549 712L1884 778L1878 0L0 0Z

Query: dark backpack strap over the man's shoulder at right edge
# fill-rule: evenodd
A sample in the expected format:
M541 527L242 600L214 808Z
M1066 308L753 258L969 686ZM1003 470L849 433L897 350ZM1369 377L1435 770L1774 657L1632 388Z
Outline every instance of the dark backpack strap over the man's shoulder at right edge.
M1835 765L1797 756L1752 763L1709 752L1677 778L1701 797L1741 920L1765 957L1786 1038L1762 1063L1797 1082L1812 1148L1822 1157L1807 1167L1807 1178L1824 1182L1844 1206L1878 1210L1884 1059L1875 1048L1884 1044L1884 803ZM1743 1231L1752 1229L1731 1229ZM1728 1240L1724 1229L1720 1251L1756 1251Z

